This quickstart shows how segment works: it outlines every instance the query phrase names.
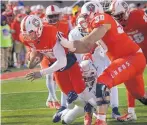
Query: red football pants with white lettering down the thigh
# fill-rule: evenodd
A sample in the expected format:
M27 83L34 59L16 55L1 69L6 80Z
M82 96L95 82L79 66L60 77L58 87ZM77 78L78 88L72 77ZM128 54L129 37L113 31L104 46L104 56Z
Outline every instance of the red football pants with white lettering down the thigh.
M145 66L146 59L141 52L118 58L112 61L111 65L104 70L97 82L105 84L109 89L125 82L130 94L139 99L145 94L143 81Z

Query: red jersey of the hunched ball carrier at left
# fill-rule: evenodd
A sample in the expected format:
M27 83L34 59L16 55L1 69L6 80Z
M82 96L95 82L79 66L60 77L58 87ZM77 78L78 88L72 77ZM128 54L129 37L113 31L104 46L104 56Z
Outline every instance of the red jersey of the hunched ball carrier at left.
M56 44L57 28L52 25L44 25L41 37L37 41L24 41L22 35L20 35L21 42L30 48L43 53L54 62L56 59L53 54L53 47Z

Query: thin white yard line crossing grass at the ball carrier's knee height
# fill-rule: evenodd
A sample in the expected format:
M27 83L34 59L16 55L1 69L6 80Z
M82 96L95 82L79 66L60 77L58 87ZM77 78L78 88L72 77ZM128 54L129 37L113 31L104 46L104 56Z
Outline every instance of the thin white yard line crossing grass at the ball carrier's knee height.
M147 88L147 86L145 86ZM125 89L125 87L118 87L118 89ZM43 93L48 91L28 91L28 92L10 92L10 93L1 93L1 95L8 95L8 94L22 94L22 93ZM57 92L61 92L60 90L57 90Z

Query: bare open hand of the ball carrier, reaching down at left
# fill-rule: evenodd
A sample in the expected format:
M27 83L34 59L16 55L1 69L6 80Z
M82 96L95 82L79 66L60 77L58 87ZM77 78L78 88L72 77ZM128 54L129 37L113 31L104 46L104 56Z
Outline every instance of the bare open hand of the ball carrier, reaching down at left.
M28 73L28 74L25 76L25 78L26 78L27 80L31 80L31 82L34 81L34 80L36 80L36 79L39 79L39 78L41 78L41 77L42 77L42 75L41 75L41 73L40 73L39 71Z

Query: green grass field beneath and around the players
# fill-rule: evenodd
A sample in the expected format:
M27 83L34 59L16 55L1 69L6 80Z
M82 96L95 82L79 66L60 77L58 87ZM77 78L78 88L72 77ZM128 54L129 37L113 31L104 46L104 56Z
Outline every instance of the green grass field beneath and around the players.
M144 74L147 86L147 70ZM147 89L147 87L146 87ZM57 91L58 98L60 92ZM24 78L2 81L1 84L1 124L2 125L53 125L52 116L55 110L48 109L45 102L48 96L45 79L34 82ZM127 97L123 85L119 86L120 111L127 109ZM111 119L109 108L108 125L147 125L147 107L136 101L138 120L120 123ZM61 125L58 123L56 125ZM83 125L83 118L78 118L72 125Z

